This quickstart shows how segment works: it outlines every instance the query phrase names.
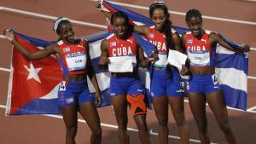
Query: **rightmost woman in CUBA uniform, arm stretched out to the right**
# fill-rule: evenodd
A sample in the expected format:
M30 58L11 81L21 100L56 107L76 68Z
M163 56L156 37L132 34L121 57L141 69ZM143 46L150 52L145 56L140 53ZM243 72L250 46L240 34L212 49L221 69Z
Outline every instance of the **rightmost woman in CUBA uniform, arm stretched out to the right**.
M189 106L199 130L201 143L210 143L207 132L207 101L228 143L236 144L230 128L224 95L215 76L215 48L217 43L236 53L248 52L250 48L248 45L243 45L241 49L236 49L226 43L216 32L203 30L202 16L197 9L190 9L187 12L186 22L190 32L184 34L182 39L183 47L187 50L191 73L188 85Z

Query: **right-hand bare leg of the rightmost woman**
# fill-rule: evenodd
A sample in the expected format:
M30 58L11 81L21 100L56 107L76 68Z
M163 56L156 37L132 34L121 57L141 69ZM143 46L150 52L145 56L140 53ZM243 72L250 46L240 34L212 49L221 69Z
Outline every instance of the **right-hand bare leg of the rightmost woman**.
M236 144L235 136L233 135L230 127L227 107L225 106L224 95L222 95L222 92L219 90L207 94L207 102L209 107L212 109L213 114L217 118L218 125L224 132L226 140L229 144Z

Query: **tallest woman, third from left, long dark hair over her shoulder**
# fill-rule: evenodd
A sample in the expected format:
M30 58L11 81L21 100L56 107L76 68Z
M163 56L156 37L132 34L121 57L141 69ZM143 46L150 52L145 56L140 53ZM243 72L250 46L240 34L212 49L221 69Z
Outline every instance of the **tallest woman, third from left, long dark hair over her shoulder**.
M96 7L101 8L101 3L98 2ZM102 12L108 18L111 16L108 12ZM149 7L149 14L154 26L134 26L134 31L145 35L149 42L154 43L159 52L159 60L152 63L150 93L154 112L159 122L160 143L168 143L168 105L170 105L178 126L181 143L187 144L189 143L189 132L185 122L183 92L180 87L183 84L180 84L180 74L177 68L167 65L169 49L183 53L181 38L172 29L172 21L169 20L170 14L164 3L152 3Z

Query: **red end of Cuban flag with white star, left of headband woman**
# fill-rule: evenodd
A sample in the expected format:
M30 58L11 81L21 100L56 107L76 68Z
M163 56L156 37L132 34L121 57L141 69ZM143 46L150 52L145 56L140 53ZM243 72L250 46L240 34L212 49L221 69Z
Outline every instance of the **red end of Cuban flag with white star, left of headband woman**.
M44 49L51 43L16 32L15 37L31 52ZM27 60L13 49L6 114L60 113L57 94L61 80L61 66L54 56Z

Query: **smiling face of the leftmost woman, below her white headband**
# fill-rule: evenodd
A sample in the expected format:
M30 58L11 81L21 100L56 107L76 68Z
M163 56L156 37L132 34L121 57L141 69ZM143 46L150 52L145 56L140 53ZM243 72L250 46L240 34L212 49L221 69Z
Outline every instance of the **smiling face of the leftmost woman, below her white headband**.
M61 24L59 36L67 43L74 43L74 32L71 23Z

